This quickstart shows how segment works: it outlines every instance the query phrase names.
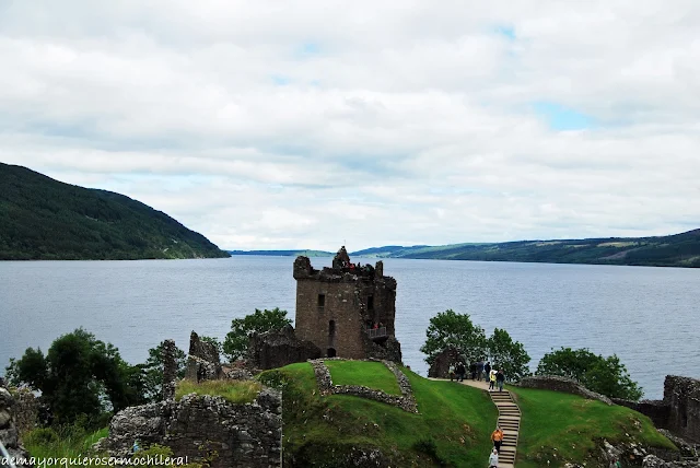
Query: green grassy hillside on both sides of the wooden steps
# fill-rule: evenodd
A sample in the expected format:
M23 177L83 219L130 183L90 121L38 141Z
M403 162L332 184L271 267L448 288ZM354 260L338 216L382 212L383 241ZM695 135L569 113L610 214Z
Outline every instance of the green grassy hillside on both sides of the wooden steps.
M390 373L377 372L377 363L326 364L339 385L395 391L388 387L392 383L386 375ZM353 396L322 397L308 363L262 373L262 384L283 390L284 466L340 468L358 449L381 452L376 456L382 464L372 466L486 466L498 418L488 394L401 370L410 381L419 414ZM584 460L586 466L600 466L602 437L674 448L649 418L628 408L555 391L515 391L523 411L517 466L561 467L565 461Z

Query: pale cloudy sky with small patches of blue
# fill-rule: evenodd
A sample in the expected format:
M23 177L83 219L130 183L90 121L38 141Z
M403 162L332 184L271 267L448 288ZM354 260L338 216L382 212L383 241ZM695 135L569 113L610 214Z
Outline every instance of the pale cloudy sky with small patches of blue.
M698 25L697 0L0 0L0 162L226 249L673 234L700 227Z

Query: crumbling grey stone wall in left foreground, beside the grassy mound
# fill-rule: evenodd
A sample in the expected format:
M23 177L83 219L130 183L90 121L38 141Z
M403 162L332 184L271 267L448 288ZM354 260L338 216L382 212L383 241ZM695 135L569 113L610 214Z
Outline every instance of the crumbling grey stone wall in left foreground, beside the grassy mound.
M128 408L113 418L109 436L95 448L125 456L135 440L165 445L191 461L206 459L211 468L281 467L282 396L264 389L252 403L235 405L191 394L178 402Z

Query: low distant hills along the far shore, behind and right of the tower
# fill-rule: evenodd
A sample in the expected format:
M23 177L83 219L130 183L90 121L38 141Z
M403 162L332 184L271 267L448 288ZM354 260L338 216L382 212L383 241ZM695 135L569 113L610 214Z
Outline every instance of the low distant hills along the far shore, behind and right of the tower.
M306 255L303 250L255 251L254 255ZM700 230L660 237L518 241L411 247L387 245L352 251L350 256L700 268Z

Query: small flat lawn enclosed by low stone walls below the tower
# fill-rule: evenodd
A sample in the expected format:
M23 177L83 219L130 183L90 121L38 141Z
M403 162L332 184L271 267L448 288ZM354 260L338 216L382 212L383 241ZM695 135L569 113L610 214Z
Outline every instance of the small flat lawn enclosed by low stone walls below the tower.
M363 385L389 395L401 395L396 376L381 362L325 361L335 385Z

